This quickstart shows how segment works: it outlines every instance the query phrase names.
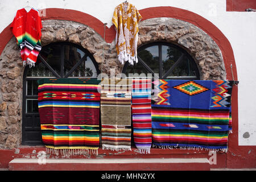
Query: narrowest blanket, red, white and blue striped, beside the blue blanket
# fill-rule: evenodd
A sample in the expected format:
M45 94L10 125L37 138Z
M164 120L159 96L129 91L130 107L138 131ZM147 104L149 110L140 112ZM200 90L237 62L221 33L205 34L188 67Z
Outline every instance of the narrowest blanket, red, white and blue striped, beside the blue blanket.
M151 133L151 80L134 79L131 93L133 136L141 154L150 154Z

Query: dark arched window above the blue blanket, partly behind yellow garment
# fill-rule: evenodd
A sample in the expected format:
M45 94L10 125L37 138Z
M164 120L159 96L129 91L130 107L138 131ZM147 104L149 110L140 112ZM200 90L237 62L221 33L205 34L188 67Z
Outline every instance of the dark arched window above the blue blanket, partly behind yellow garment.
M184 49L166 42L149 43L138 48L138 63L126 63L122 73L159 74L163 79L200 80L197 65Z

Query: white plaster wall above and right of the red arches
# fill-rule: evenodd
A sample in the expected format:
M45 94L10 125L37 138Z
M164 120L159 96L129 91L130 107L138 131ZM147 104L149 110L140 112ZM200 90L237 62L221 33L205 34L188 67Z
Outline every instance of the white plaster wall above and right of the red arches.
M103 23L112 25L115 6L122 3L117 0L0 0L0 32L12 21L16 10L24 6L35 9L61 8L82 11L90 14ZM27 3L28 2L28 3ZM232 45L237 64L238 80L238 117L239 144L256 145L256 13L226 12L226 0L130 0L138 10L147 7L172 6L192 11L208 19L217 26ZM230 63L232 60L230 60ZM246 133L247 132L247 133ZM244 135L246 133L246 135ZM249 136L249 138L244 138Z

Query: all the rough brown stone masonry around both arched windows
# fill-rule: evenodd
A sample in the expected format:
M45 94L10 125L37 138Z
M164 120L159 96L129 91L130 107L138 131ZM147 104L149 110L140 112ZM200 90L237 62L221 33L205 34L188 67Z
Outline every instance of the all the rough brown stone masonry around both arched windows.
M92 28L65 20L42 22L42 46L53 42L72 42L88 49L102 72L122 72L114 40L105 43ZM204 31L191 23L173 18L147 19L139 23L138 46L150 42L174 43L195 59L202 80L226 78L220 48ZM102 58L104 52L104 59ZM24 67L19 48L12 38L0 56L0 148L15 148L22 140L22 81Z

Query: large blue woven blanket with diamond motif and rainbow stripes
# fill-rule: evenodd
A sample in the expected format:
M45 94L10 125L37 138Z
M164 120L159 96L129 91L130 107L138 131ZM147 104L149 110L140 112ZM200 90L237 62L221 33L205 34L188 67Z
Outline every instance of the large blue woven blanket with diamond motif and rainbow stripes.
M233 81L157 80L154 83L154 146L227 151Z

